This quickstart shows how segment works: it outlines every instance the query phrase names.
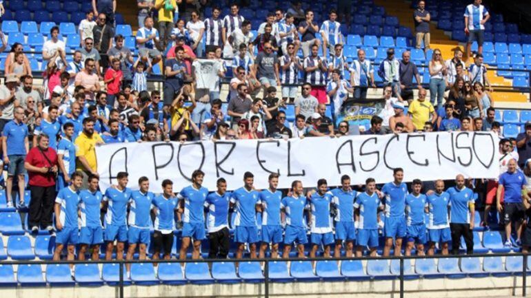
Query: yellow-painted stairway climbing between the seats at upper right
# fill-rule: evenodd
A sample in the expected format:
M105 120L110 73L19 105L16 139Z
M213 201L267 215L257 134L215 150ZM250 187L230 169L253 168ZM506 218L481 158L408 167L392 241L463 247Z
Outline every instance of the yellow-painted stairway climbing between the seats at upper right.
M411 28L412 32L414 32L414 21L412 17L414 10L410 8L410 1L374 0L374 3L383 6L388 15L398 17L401 25ZM430 23L430 35L431 48L439 48L445 59L452 58L452 49L458 45L458 42L452 41L449 34L446 34L443 30L439 30L434 22ZM461 49L464 47L463 44L459 46L461 46ZM473 63L472 58L470 58L467 64L470 65L470 63ZM503 76L498 76L496 72L488 72L488 78L492 85L504 87L512 86L512 80L503 78ZM495 102L494 106L496 107L514 107L515 103L529 102L528 94L514 92L494 92L492 97Z

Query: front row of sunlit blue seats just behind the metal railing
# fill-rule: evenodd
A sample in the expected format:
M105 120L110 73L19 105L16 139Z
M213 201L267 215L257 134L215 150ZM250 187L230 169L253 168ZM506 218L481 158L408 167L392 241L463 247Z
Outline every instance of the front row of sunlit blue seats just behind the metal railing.
M410 259L403 262L405 279L464 277L508 277L522 273L523 259L519 256L505 257L461 257L437 259L416 259L414 265ZM212 262L209 268L206 262L190 262L181 269L177 262L163 262L154 269L149 263L131 265L130 279L123 276L126 285L153 286L157 284L239 284L261 283L264 280L259 262L239 262L238 270L233 262ZM385 259L368 260L366 266L360 260L345 260L341 265L336 261L272 261L268 264L268 277L273 282L293 281L368 281L372 279L397 279L400 275L400 262ZM80 264L74 268L74 279L68 264L50 264L46 266L46 280L42 267L37 264L19 265L17 278L11 265L0 264L0 286L115 286L120 279L119 264L103 264L100 273L97 264ZM157 275L155 275L155 270ZM529 270L529 268L528 268ZM125 270L123 270L125 272Z

